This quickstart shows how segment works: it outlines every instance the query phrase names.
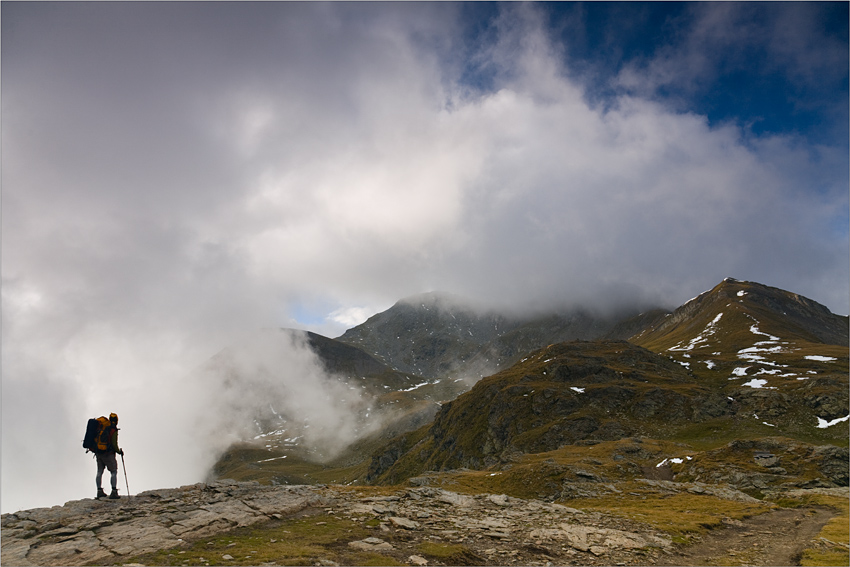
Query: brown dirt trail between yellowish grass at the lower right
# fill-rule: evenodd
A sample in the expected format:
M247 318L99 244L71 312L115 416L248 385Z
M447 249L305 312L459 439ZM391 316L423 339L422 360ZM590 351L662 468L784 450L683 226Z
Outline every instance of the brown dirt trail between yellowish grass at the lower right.
M825 508L779 509L734 521L657 565L799 565L821 528L835 516Z

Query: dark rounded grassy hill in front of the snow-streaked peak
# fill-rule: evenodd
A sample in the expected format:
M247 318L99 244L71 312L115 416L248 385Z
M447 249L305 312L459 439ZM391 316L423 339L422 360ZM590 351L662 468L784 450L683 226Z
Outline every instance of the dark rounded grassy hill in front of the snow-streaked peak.
M376 455L368 480L483 468L586 439L664 437L733 413L727 396L666 357L626 341L559 343L444 404L427 430Z

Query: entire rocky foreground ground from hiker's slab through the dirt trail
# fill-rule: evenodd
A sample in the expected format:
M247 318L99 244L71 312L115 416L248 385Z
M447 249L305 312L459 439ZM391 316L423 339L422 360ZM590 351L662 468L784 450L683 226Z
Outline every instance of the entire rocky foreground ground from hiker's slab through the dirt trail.
M673 490L654 482L659 491ZM699 494L709 487L682 483L675 489ZM710 490L718 498L753 500L731 488ZM220 481L4 514L2 564L121 565L161 549L173 549L179 558L192 542L296 515L315 516L317 524L334 516L368 527L370 537L342 533L337 547L380 553L401 564L440 563L420 551L423 542L440 542L462 544L463 555L450 564L704 565L730 564L723 558L737 556L749 565L788 565L799 561L834 513L775 509L744 521L730 519L725 529L682 547L645 524L539 500L469 496L431 486L367 495L340 486ZM252 564L250 557L210 551L197 562ZM329 548L314 564L335 565L339 557Z

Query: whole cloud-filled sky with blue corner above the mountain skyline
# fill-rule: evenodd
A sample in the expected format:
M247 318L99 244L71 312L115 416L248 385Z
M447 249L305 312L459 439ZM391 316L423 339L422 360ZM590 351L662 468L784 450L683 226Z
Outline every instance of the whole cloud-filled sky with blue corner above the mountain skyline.
M4 455L423 291L848 313L847 6L3 3Z

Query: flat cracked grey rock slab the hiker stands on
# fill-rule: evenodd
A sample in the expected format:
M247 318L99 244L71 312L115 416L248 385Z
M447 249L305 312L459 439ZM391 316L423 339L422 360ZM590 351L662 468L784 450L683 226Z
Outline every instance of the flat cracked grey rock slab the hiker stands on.
M3 565L85 565L179 547L329 500L312 486L220 481L120 500L75 500L2 517Z

